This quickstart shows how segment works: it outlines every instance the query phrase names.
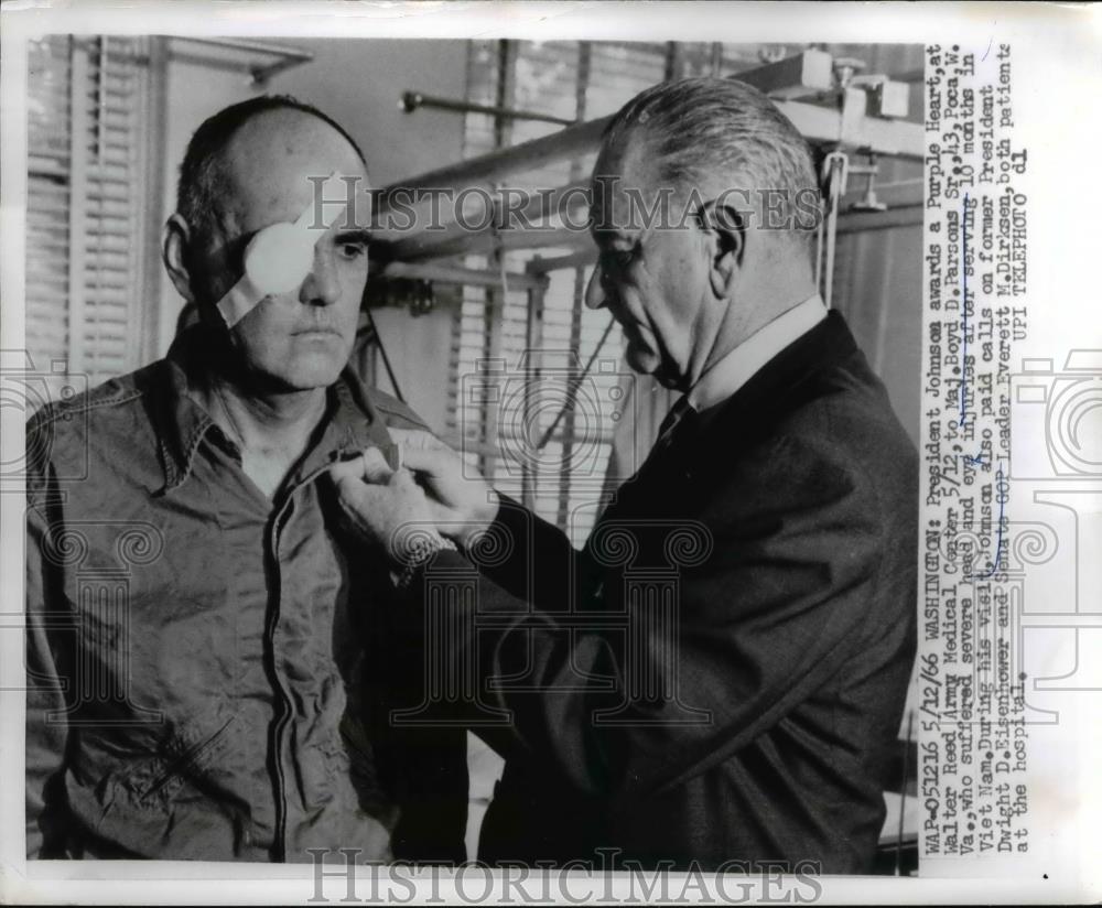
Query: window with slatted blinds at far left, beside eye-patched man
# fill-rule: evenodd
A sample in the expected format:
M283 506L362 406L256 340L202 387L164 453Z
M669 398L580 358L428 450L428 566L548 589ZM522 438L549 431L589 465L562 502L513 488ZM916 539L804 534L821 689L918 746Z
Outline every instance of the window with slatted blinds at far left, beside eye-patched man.
M89 386L151 358L150 39L30 42L26 348Z

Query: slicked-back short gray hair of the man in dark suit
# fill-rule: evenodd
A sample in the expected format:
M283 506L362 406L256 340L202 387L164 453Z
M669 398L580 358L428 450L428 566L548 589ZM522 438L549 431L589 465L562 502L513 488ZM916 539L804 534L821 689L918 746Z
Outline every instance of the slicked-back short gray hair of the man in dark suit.
M613 117L602 156L633 140L665 185L688 190L719 177L725 188L778 193L785 223L810 247L820 198L811 147L756 88L730 78L659 83Z

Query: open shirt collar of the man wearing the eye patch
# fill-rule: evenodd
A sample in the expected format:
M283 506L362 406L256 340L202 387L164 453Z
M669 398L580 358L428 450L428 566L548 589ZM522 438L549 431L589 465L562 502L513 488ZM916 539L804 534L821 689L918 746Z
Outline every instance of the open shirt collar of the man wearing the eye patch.
M210 340L202 325L188 328L173 342L161 363L143 370L152 385L149 388L150 419L164 468L162 493L172 491L186 482L195 453L212 429L218 433L219 441L223 440L210 414L196 399L194 378L190 378L199 375L201 352L209 352ZM327 398L324 426L315 434L316 441L295 469L295 483L345 453L389 441L381 415L349 367L346 366L329 387Z

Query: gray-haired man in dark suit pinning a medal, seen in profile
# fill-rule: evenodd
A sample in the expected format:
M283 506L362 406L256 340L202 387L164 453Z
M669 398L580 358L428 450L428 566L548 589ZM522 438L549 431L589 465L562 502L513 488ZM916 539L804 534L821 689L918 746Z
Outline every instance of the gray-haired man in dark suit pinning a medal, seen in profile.
M797 130L736 82L665 83L614 117L587 303L684 396L582 552L423 434L404 435L420 486L378 460L336 475L371 536L401 512L454 537L425 583L483 562L446 606L473 615L431 642L486 681L441 714L480 711L507 759L484 858L871 868L915 650L918 472L815 292L815 183ZM640 223L663 193L674 216ZM479 531L514 556L479 559Z

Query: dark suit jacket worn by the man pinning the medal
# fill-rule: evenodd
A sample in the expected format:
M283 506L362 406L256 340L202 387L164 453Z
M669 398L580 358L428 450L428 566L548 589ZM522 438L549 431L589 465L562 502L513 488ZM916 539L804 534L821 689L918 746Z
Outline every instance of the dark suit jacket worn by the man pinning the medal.
M514 556L484 559L477 628L451 638L487 682L475 712L510 713L476 728L507 758L479 857L867 871L915 651L917 485L831 313L679 428L582 553L504 507Z

